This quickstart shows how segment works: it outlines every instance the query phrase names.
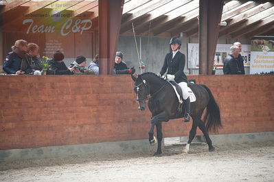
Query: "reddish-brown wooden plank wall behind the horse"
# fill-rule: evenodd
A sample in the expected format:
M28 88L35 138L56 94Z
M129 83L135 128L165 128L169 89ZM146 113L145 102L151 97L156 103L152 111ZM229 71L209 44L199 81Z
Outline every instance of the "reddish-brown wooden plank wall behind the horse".
M274 131L274 76L189 79L212 90L221 110L219 133ZM129 75L0 76L0 84L2 150L148 138L150 112L137 109ZM188 135L191 125L164 123L164 137Z

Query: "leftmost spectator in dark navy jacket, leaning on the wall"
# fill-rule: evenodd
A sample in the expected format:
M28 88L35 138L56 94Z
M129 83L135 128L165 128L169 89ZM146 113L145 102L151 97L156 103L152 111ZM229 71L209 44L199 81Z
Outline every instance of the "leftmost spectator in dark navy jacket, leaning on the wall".
M8 74L24 75L32 73L32 68L28 63L27 41L16 40L12 46L12 52L5 56L3 70Z

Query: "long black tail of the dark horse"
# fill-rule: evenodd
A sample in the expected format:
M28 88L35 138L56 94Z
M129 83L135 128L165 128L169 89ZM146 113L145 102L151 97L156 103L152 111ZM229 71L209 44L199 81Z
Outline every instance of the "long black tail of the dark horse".
M203 86L209 94L207 112L205 113L205 128L207 131L212 131L213 129L214 132L217 132L218 128L222 127L219 106L214 99L212 91L210 91L205 85L201 86Z

